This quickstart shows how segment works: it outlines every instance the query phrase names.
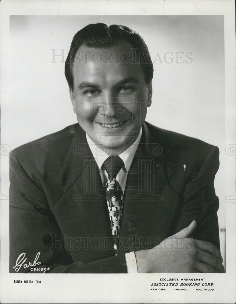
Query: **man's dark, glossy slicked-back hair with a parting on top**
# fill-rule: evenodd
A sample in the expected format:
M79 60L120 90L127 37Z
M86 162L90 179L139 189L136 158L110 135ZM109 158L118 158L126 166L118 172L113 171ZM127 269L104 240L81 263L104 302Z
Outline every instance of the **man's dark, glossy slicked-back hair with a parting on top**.
M69 87L74 89L73 63L80 46L107 48L117 45L121 40L128 41L135 49L139 57L138 62L142 64L145 82L148 84L153 77L153 64L142 37L127 26L95 23L85 26L73 37L65 63L65 76Z

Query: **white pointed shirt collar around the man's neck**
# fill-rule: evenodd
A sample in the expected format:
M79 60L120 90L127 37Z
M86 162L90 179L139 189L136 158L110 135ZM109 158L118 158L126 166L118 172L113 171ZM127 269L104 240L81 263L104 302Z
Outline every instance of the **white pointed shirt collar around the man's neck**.
M126 150L124 150L121 154L119 154L119 157L122 159L122 161L125 164L127 174L129 173L132 161L134 159L134 155L135 155L138 145L140 143L141 135L142 135L142 128L140 129L138 137L134 141L134 143L132 143L132 145L130 147L128 147ZM102 149L97 147L96 144L91 140L91 138L88 136L87 133L86 133L86 139L88 142L88 146L93 154L93 157L98 165L98 168L101 169L102 164L110 155L106 154L104 151L102 151Z

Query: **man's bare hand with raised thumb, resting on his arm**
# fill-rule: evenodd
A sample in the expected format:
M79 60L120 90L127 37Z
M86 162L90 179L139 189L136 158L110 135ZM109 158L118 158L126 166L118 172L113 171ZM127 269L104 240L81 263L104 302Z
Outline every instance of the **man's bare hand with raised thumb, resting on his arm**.
M210 242L188 236L196 229L188 227L166 238L152 249L135 252L139 273L224 273L220 251Z

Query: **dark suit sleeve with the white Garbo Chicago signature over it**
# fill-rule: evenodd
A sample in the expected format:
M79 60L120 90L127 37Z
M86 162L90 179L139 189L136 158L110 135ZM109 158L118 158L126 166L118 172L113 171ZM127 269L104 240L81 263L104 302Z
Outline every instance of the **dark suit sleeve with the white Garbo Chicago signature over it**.
M46 268L46 272L52 273L127 273L124 254L89 263L74 262L64 248L52 250L50 234L53 233L60 231L45 193L11 154L9 272L42 272L38 269ZM35 261L38 252L40 255ZM20 254L23 255L19 258Z

